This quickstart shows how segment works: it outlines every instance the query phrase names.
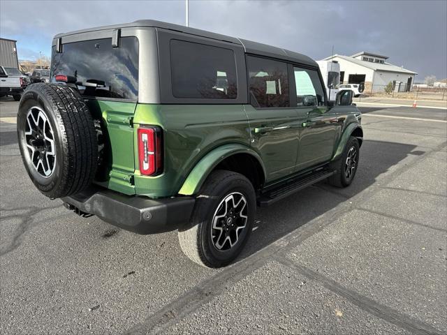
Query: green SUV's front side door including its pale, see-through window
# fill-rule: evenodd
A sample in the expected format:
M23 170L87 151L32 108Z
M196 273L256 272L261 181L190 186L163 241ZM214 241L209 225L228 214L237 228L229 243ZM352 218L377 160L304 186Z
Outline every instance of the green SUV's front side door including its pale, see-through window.
M317 70L293 67L297 113L300 119L296 171L330 161L342 119L325 106Z

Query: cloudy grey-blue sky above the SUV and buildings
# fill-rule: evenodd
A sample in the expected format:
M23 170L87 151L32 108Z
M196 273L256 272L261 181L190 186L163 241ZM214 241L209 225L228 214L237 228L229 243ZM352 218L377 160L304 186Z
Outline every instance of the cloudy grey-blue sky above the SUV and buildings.
M0 36L20 59L50 56L60 32L154 19L185 22L181 1L0 0ZM360 51L418 73L447 77L447 1L189 1L191 27L322 59Z

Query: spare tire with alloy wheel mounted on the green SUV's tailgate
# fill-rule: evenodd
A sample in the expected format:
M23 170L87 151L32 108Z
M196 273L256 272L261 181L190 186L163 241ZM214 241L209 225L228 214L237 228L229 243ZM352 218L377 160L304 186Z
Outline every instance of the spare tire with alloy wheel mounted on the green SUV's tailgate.
M30 85L20 100L17 136L29 177L47 197L78 193L93 181L98 165L96 131L76 89Z

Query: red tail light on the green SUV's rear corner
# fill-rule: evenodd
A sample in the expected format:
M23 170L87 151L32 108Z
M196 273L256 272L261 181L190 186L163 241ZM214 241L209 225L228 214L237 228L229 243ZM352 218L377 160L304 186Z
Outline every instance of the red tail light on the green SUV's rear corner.
M145 176L154 176L163 170L161 133L161 128L155 126L138 128L138 162L140 173Z

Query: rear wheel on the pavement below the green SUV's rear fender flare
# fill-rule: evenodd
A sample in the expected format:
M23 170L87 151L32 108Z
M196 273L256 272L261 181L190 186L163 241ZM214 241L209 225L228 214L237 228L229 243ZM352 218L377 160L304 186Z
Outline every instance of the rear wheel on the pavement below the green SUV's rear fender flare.
M182 251L205 267L224 267L240 254L253 227L256 195L242 174L217 170L196 198L190 224L179 230Z

